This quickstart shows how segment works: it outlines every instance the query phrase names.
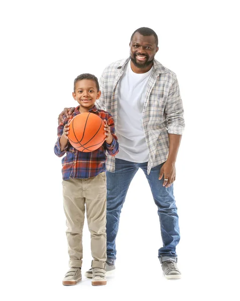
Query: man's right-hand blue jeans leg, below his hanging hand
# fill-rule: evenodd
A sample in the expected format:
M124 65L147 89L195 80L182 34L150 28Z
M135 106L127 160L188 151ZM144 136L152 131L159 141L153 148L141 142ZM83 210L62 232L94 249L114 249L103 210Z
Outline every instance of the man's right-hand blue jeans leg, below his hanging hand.
M165 188L163 178L159 180L160 169L163 164L152 168L147 174L147 164L139 164L148 179L154 202L158 207L163 247L158 250L160 262L173 260L177 262L176 246L180 240L178 214L173 195L173 185Z

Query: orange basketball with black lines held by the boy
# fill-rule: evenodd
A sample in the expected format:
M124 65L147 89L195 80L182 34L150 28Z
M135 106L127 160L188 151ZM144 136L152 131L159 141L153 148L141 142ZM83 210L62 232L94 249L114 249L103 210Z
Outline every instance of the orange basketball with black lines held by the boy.
M103 120L93 113L80 113L69 123L68 140L80 152L92 152L106 138Z

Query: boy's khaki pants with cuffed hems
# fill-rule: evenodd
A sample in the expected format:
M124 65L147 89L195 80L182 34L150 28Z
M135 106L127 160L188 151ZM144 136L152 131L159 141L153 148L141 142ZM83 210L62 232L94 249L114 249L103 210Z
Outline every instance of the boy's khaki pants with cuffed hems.
M69 267L82 266L82 230L86 206L91 233L92 267L105 267L106 261L106 175L88 179L63 180Z

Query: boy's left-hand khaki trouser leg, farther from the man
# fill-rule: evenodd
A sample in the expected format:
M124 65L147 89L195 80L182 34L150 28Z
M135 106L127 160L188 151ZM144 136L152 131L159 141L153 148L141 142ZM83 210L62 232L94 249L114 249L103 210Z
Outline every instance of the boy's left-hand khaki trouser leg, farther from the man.
M66 215L69 267L82 266L82 230L85 199L82 196L82 180L63 180L63 206Z

